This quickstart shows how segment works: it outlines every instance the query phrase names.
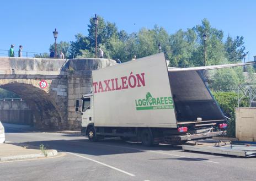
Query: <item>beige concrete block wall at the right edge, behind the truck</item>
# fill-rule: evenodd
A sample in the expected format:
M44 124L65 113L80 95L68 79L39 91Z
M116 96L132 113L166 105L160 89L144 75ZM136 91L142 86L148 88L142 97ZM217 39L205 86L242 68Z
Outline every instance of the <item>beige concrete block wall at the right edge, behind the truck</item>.
M256 141L256 107L236 108L236 138Z

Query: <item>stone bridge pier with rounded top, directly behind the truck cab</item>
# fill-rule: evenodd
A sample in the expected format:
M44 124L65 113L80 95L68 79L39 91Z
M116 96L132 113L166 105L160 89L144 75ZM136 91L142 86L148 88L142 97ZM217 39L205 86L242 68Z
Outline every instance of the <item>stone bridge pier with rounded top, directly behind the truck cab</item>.
M66 69L74 69L67 76L68 85L68 129L81 129L81 114L75 111L76 100L81 101L84 94L92 91L92 70L115 65L111 59L71 59L67 62ZM81 103L80 103L81 105Z

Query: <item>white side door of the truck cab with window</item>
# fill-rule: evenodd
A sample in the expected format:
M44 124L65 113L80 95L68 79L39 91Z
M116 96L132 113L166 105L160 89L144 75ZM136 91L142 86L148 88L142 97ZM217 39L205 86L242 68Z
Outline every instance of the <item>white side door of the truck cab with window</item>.
M90 97L84 97L82 103L82 127L87 127L92 122L92 111L90 108Z

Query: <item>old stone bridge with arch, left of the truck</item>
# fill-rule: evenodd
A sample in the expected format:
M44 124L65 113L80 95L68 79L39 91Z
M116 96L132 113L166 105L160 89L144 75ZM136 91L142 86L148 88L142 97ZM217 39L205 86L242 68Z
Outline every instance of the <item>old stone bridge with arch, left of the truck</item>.
M15 92L31 109L40 129L78 129L77 99L92 90L92 70L116 64L111 59L0 57L0 88ZM44 80L47 86L40 87Z

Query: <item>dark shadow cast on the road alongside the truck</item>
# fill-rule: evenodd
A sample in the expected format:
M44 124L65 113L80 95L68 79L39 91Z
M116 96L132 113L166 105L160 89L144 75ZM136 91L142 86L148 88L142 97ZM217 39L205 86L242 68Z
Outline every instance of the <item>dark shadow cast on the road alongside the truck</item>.
M22 144L38 146L44 144L46 149L56 149L63 152L81 153L86 155L101 156L124 153L137 153L163 150L180 150L179 146L159 145L156 147L144 147L140 142L122 142L121 140L102 140L90 142L88 139L75 140L50 140L50 141L29 141Z

